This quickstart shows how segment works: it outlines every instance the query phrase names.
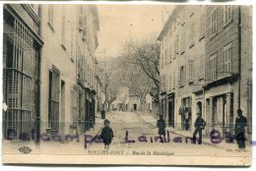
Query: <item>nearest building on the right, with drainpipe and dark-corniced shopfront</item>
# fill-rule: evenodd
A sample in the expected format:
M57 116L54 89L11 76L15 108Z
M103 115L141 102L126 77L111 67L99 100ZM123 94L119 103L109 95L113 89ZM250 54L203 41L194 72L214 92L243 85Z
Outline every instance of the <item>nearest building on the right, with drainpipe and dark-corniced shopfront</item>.
M251 8L247 6L208 6L206 8L207 132L233 131L236 110L248 118L251 133L252 29Z

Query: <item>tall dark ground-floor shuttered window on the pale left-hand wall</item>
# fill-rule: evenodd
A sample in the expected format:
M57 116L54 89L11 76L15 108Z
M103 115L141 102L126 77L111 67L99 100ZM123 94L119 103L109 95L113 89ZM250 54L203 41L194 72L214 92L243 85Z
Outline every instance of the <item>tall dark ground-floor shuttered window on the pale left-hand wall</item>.
M52 134L59 133L59 92L60 73L52 66L49 71L49 103L48 103L48 128Z

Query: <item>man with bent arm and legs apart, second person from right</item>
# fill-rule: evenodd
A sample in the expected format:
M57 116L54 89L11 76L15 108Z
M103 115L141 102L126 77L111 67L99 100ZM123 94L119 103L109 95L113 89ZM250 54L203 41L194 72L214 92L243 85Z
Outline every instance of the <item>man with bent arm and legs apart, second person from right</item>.
M198 144L202 143L202 130L205 129L206 121L202 118L201 113L197 113L197 119L195 121L195 131L193 133L193 143L196 143L196 136L199 134Z

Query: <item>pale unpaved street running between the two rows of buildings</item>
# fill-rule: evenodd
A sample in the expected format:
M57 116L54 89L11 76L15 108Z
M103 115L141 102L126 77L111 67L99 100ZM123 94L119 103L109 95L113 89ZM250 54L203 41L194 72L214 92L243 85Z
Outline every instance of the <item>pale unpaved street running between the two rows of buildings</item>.
M57 142L51 139L48 142L41 141L38 146L33 143L27 143L26 145L32 148L32 153L58 155L67 153L80 155L141 155L142 152L150 152L151 155L166 156L248 156L251 153L250 149L237 152L237 149L232 147L224 149L209 144L192 144L190 140L186 142L185 138L171 133L169 127L166 128L166 131L169 131L169 141L162 143L159 139L155 139L155 137L158 137L158 128L155 126L157 120L154 123L156 118L151 114L113 111L106 114L106 119L110 121L110 127L114 132L114 139L110 144L109 150L104 150L102 142L90 139L90 137L100 134L103 120L98 113L96 114L95 128L86 133L88 139L87 147L85 147L85 135L80 136L79 142L77 142L77 139L73 139L70 142ZM135 142L125 142L127 132L128 141ZM147 142L140 142L138 138L141 136L145 136ZM179 142L180 139L181 142ZM19 153L19 147L24 145L13 143L9 145L10 148L6 147L3 150L5 152L8 151L8 153Z

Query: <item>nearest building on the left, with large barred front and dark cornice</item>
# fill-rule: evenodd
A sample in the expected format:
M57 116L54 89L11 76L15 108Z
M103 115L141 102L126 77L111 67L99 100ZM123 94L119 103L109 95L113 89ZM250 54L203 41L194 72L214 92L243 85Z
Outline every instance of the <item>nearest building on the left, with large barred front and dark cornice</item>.
M3 133L7 140L39 141L38 5L4 5ZM36 136L34 136L36 135Z

